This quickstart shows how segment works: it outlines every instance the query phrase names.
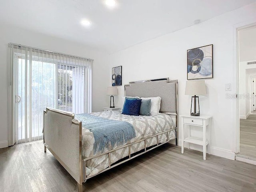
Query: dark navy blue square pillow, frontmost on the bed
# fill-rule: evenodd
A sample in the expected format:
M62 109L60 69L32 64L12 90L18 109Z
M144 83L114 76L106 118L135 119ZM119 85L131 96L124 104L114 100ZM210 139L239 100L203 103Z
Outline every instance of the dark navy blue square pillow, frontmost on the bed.
M125 98L122 114L139 116L140 105L141 105L141 99L130 100Z

